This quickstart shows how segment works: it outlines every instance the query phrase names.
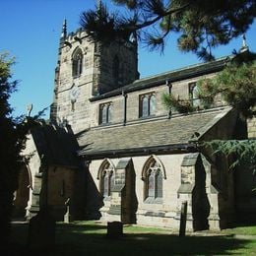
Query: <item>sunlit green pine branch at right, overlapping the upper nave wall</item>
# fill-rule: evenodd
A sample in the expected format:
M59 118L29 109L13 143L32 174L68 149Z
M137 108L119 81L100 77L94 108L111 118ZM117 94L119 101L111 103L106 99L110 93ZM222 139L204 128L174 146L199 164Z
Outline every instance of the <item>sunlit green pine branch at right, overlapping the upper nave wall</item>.
M197 83L198 98L187 99L162 96L167 108L178 112L193 112L198 108L214 105L216 96L235 107L244 117L256 114L256 58L254 53L237 54L224 70L214 79L202 79ZM193 101L200 100L200 106L194 106Z

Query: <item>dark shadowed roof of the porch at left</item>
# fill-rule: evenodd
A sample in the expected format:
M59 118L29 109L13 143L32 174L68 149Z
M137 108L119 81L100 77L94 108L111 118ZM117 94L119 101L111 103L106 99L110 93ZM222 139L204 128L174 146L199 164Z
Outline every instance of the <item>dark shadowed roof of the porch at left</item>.
M77 167L78 143L71 130L41 124L31 131L39 157L48 164Z

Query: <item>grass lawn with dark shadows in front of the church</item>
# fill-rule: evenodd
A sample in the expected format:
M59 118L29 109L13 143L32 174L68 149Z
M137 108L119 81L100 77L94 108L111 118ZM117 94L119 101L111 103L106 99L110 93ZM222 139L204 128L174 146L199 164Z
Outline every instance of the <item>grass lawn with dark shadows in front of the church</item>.
M256 255L256 226L216 233L187 233L187 236L179 237L166 228L127 225L122 238L109 239L105 225L58 223L54 248L40 251L26 247L28 230L28 224L13 224L14 246L9 255Z

